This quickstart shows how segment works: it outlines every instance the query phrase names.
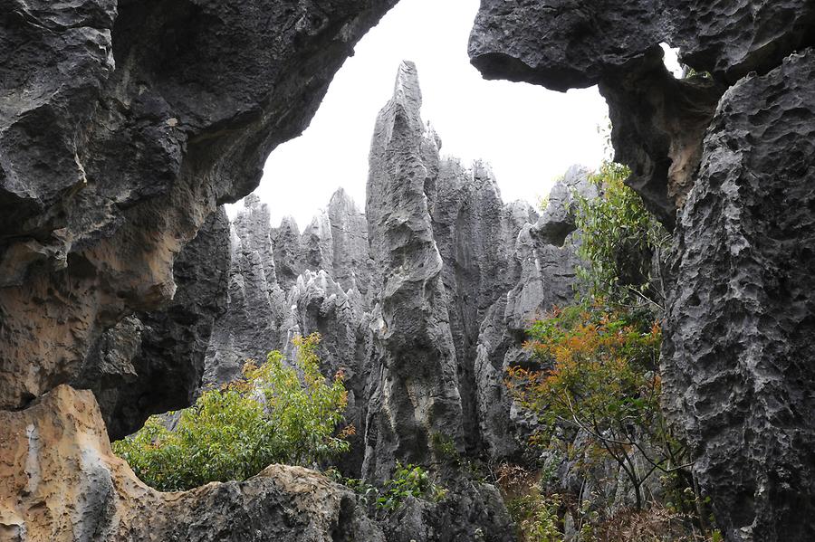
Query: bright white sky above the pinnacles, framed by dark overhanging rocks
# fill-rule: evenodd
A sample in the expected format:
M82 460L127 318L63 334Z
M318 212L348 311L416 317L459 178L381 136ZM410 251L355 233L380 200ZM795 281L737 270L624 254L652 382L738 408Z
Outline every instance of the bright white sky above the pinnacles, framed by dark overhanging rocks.
M401 0L357 45L302 137L274 150L255 194L272 223L292 215L301 229L340 186L365 207L374 121L393 90L398 64L417 63L424 107L442 153L493 166L504 201L533 202L576 163L603 157L598 127L608 116L596 88L568 93L484 81L467 58L479 0ZM235 214L237 204L230 206Z

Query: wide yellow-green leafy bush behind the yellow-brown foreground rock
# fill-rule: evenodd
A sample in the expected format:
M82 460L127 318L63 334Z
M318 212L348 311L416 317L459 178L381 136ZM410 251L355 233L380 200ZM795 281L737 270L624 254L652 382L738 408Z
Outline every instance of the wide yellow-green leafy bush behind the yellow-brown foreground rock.
M181 412L174 431L151 417L113 450L158 490L186 490L209 481L245 480L272 463L312 466L346 452L335 436L347 404L342 376L326 382L316 348L320 337L295 338L298 370L271 352L248 363L244 378L205 391Z

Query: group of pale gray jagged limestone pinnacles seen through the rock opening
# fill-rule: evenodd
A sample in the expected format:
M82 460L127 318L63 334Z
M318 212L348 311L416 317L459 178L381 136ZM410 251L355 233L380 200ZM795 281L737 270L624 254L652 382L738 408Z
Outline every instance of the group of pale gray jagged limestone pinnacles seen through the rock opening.
M437 459L436 433L474 455L519 452L527 429L503 373L529 361L530 320L572 299L568 206L572 191L596 195L573 167L542 216L504 204L488 166L440 157L420 106L406 62L372 140L366 214L340 190L299 233L291 219L270 229L265 204L247 198L207 355L207 381L222 383L247 357L291 359L295 334L321 333L323 370L348 377L357 429L340 467L369 480Z

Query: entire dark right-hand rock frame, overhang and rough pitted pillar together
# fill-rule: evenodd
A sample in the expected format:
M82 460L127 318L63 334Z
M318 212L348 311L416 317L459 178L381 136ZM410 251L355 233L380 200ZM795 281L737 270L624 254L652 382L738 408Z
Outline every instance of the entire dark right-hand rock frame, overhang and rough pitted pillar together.
M673 79L663 42L710 77ZM628 184L676 223L665 405L728 540L815 529L813 44L806 0L484 0L470 43L488 78L599 84Z

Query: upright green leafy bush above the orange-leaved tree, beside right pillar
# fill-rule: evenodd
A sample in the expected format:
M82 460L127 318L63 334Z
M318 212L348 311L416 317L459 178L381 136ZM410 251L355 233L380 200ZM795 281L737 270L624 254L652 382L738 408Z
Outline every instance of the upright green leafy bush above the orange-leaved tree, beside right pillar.
M578 272L594 298L625 302L633 297L660 305L662 252L669 236L624 184L629 175L628 167L606 161L590 177L600 196L574 194L578 252L589 264Z

